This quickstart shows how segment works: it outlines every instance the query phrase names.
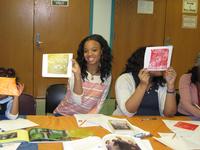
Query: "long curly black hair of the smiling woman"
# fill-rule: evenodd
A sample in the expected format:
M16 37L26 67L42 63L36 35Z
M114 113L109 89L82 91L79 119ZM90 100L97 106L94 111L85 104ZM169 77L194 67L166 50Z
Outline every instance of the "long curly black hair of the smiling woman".
M79 63L79 66L81 68L82 79L84 80L88 76L88 73L86 72L87 62L84 58L84 45L89 40L94 40L98 42L101 46L102 55L100 58L100 64L101 64L100 78L101 78L101 81L104 82L104 79L107 79L111 75L112 54L111 54L111 48L108 46L107 41L101 35L98 35L98 34L92 34L85 37L79 44L76 60Z

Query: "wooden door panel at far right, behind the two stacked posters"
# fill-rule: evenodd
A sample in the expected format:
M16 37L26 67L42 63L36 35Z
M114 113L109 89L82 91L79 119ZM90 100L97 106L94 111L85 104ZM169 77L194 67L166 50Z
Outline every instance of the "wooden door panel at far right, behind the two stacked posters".
M183 0L167 0L165 41L171 44L173 48L172 66L177 71L176 87L183 73L190 69L197 53L200 52L200 1L197 13L183 13ZM197 28L183 28L183 15L197 16Z

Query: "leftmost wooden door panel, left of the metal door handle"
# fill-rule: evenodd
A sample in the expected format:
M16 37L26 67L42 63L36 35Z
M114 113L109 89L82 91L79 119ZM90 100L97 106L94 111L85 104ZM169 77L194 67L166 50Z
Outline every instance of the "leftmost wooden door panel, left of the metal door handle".
M33 0L0 1L0 67L16 70L33 93Z

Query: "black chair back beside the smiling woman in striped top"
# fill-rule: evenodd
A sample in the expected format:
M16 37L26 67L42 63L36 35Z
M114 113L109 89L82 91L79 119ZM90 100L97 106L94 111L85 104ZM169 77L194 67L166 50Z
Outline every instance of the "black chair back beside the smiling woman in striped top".
M46 90L46 113L53 113L60 101L64 98L67 91L66 84L53 84Z

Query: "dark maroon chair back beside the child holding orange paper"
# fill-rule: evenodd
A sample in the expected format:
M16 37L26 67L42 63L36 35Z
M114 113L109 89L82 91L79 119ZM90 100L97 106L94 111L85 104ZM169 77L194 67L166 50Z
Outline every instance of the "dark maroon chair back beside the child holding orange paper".
M36 101L32 95L22 93L19 96L19 115L35 115Z

